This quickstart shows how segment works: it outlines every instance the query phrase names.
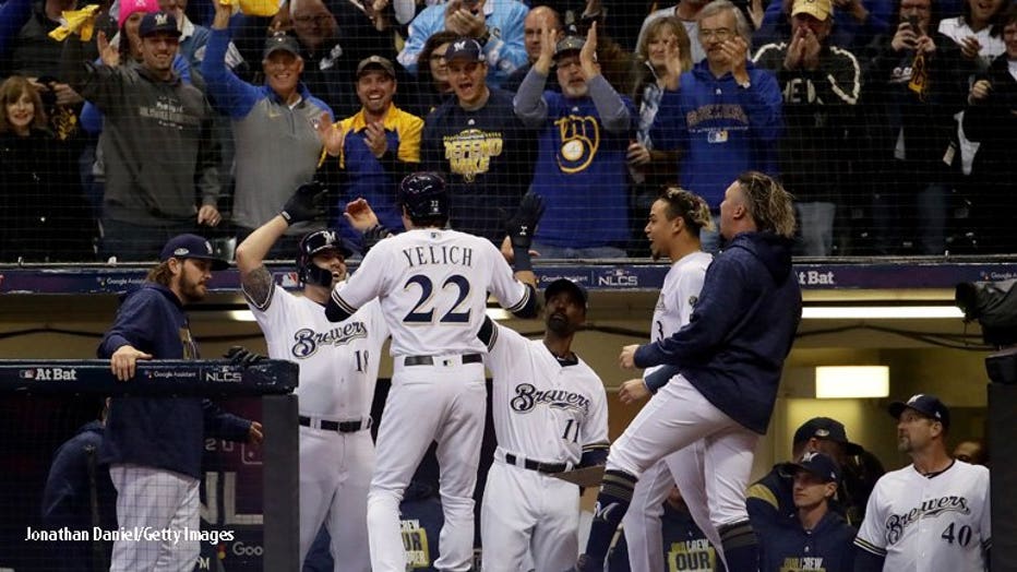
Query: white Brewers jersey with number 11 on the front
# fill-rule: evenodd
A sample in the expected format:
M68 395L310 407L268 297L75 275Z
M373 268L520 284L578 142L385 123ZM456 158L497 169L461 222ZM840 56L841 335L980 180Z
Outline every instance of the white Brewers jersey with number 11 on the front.
M582 359L563 366L543 341L494 324L487 366L499 446L535 461L577 464L584 445L608 443L603 383Z

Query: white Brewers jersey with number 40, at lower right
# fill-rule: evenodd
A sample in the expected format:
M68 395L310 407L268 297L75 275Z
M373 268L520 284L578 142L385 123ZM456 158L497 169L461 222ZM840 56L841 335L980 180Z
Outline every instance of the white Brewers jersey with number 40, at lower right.
M894 572L986 570L991 543L989 469L961 461L932 478L914 465L883 475L854 539Z

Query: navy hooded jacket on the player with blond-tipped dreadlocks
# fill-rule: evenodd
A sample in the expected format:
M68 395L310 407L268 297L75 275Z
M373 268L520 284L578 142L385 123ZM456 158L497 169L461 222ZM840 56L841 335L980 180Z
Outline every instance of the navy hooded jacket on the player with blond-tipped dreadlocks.
M675 366L714 406L763 434L801 317L791 241L742 233L706 270L689 324L641 346L635 365Z

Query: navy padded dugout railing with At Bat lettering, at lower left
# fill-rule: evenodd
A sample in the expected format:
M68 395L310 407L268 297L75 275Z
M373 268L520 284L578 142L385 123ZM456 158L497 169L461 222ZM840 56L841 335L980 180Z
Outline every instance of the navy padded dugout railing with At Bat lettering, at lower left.
M246 536L246 543L238 543L234 534L228 535L230 541L210 543L214 546L203 547L196 570L225 570L222 561L230 556L243 564L230 570L297 571L299 445L297 396L292 394L297 376L297 365L284 360L264 360L247 368L228 360L153 360L140 361L134 378L120 382L107 360L0 360L0 454L7 460L0 472L5 499L0 502L0 570L50 571L69 564L57 560L62 558L59 545L33 539L29 527L43 528L37 479L45 479L46 474L38 468L46 466L53 454L52 443L71 437L67 429L74 424L69 424L69 418L77 419L81 412L95 410L89 404L105 396L144 395L213 398L226 410L261 421L264 429L264 441L256 451L205 439L206 464L210 455L227 456L223 450L240 451L235 456L241 457L238 463L248 465L248 472L210 473L213 476L203 479L210 489L202 499L203 527L205 517L214 514L218 528L242 527L254 534ZM237 510L236 497L244 488L237 479L244 475L261 479L260 499L249 500L251 505L260 505L260 514L239 514ZM94 486L92 491L94 502ZM89 526L84 537L67 540L96 546L91 550L92 562L80 562L79 570L97 570L96 564L103 562L101 543L93 541L95 535L91 533ZM64 534L73 538L70 532Z

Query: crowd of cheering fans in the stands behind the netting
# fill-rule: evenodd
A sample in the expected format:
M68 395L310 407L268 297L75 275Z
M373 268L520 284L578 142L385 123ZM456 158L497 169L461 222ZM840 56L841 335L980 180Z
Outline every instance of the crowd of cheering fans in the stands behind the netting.
M643 257L665 183L795 196L797 254L1013 253L1010 0L75 0L0 3L0 262L149 260L242 239L297 186L330 218L442 174L501 243L535 190L546 258ZM704 248L719 248L707 234ZM286 240L279 252L291 251Z

